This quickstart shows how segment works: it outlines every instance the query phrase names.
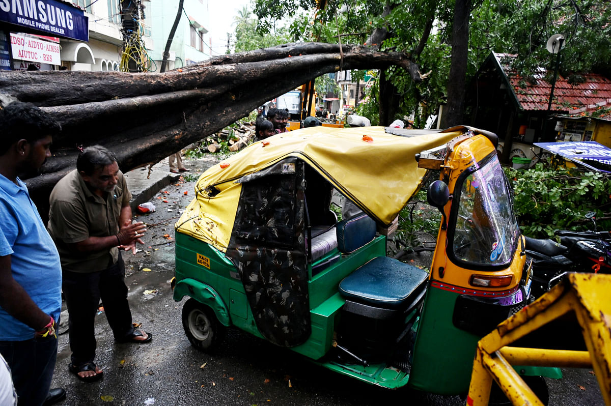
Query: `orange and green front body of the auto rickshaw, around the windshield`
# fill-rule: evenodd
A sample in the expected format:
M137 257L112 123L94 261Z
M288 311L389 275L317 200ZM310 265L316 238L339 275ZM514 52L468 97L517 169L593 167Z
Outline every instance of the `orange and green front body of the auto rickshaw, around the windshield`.
M492 161L497 160L496 156L492 155L495 153L492 144L481 136L459 140L453 145L453 151L450 152L441 173L442 179L447 181L450 195L454 197L448 200L443 208L448 223L452 220L453 206L459 203L456 200L457 188L462 187L463 182L467 182L467 178L464 177L466 173L480 169L481 162L490 165ZM467 190L469 187L471 186L467 184ZM522 278L525 265L525 255L519 249L522 236L518 236L518 247L514 250L507 266L489 269L480 266L472 269L468 267L469 264L452 261L449 250L452 249L450 245L453 242L447 236L449 229L450 227L441 227L441 225L439 228L438 244L431 264L430 286L426 292L415 341L409 385L423 391L457 394L465 393L469 388L469 366L475 355L478 339L486 333L478 334L474 331L482 322L482 320L478 321L476 315L483 316L477 313L477 310L488 306L488 309L494 309L494 316L504 319L513 304L519 306L525 301L519 286L521 282L527 281L528 277ZM510 275L511 283L499 288L483 289L470 282L474 275L486 277ZM461 297L480 297L481 302L471 300L459 302ZM505 305L487 304L487 302L494 303L495 300L504 300Z

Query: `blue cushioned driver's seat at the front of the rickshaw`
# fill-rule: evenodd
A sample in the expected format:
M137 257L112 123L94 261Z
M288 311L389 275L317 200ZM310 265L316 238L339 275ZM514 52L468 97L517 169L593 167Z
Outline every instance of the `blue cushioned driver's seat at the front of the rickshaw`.
M427 279L425 270L378 256L343 278L339 291L354 302L398 309L408 306L419 296Z

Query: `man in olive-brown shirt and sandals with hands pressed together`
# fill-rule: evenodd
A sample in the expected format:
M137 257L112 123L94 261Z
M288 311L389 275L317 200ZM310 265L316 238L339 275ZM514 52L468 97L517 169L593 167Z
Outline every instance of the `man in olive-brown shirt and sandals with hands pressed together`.
M151 333L134 329L119 248L136 253L146 231L132 223L131 194L114 154L100 145L85 148L76 170L53 188L49 233L59 251L68 306L72 350L70 372L92 382L103 371L95 358L95 314L100 304L119 343L148 343Z

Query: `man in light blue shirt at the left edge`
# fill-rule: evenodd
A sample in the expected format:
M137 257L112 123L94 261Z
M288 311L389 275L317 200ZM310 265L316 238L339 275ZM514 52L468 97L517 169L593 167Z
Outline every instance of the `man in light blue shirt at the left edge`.
M18 175L35 175L61 126L30 103L0 110L0 353L19 405L50 404L62 270L57 248ZM50 396L49 395L54 395Z

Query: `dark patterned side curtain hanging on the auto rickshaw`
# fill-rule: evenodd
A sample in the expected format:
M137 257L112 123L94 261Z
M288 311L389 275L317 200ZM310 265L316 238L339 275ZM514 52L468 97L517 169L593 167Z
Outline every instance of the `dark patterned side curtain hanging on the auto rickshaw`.
M240 272L257 328L278 346L310 336L304 238L304 164L286 159L244 182L227 255Z

